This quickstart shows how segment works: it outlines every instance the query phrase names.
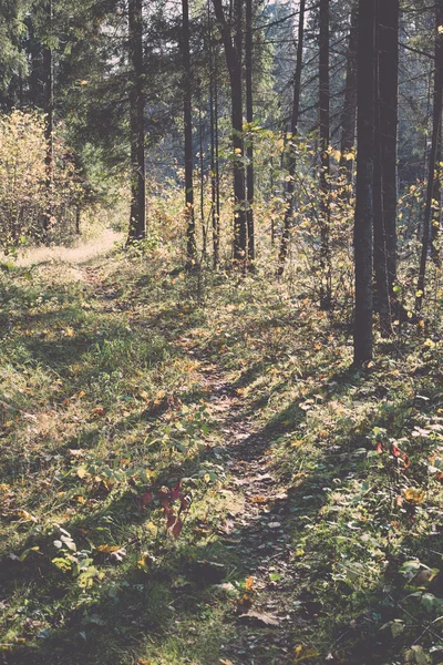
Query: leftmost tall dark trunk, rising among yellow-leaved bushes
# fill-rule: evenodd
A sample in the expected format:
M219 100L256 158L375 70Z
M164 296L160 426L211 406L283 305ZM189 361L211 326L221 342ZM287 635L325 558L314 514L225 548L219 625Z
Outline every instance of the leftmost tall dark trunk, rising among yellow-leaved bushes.
M44 137L47 141L45 171L47 171L47 211L43 219L44 236L53 218L53 181L54 181L54 62L51 44L52 38L52 0L47 3L48 37L43 49L43 76L44 76Z

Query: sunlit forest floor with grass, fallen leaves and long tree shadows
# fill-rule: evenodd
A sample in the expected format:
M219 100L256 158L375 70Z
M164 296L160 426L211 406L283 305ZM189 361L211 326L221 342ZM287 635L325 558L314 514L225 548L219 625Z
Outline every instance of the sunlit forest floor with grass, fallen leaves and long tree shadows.
M110 238L0 295L6 664L443 659L437 331Z

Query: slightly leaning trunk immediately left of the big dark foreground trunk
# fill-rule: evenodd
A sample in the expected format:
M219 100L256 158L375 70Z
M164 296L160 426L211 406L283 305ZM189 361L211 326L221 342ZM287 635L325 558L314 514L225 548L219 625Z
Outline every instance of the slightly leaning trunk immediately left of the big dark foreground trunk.
M343 114L341 117L340 166L346 170L348 184L352 183L353 172L353 160L349 158L349 154L356 144L358 16L356 2L351 10Z

